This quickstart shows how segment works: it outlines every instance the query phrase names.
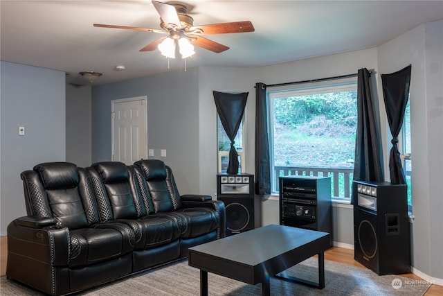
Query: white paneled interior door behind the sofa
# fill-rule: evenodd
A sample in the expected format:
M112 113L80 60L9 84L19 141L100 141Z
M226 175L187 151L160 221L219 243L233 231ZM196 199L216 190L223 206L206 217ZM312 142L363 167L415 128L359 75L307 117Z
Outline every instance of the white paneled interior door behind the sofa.
M147 158L147 98L112 101L112 160L134 164Z

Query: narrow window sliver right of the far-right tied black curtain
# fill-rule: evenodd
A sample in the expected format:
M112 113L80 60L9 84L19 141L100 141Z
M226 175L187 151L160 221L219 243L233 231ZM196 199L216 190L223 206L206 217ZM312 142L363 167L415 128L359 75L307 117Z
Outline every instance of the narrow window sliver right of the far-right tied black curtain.
M408 210L412 212L412 152L410 148L410 104L406 105L404 112L403 126L399 134L399 150L401 153L401 162L406 176L406 184L408 184Z

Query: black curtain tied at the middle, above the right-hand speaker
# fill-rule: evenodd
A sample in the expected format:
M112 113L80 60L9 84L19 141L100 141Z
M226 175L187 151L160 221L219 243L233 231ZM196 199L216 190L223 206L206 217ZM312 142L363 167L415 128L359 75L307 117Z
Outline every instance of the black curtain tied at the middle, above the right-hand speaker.
M397 143L398 135L403 125L404 111L408 104L411 65L395 73L381 74L383 85L383 98L385 100L386 114L390 133L392 134L392 148L389 155L390 182L406 184L403 167Z

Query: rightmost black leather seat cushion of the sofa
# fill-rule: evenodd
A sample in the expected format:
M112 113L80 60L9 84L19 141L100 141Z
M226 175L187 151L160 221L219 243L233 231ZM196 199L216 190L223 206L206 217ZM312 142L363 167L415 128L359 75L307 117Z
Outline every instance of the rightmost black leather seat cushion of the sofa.
M215 211L209 208L183 208L174 212L161 214L170 216L179 222L181 226L180 238L194 238L208 234L217 229L219 225Z

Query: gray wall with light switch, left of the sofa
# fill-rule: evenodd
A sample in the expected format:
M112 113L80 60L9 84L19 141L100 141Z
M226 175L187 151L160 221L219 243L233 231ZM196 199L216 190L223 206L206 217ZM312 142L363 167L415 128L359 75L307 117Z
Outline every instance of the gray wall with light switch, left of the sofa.
M64 72L1 62L1 235L26 216L22 171L65 160ZM24 136L18 127L24 126Z

